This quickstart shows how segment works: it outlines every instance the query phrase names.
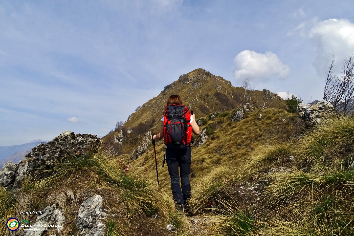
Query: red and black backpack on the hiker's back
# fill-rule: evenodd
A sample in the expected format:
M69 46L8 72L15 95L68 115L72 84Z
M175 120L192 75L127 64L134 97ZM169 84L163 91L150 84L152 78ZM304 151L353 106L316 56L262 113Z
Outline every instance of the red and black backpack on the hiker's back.
M185 105L167 105L164 116L164 139L169 148L187 149L192 140L190 111Z

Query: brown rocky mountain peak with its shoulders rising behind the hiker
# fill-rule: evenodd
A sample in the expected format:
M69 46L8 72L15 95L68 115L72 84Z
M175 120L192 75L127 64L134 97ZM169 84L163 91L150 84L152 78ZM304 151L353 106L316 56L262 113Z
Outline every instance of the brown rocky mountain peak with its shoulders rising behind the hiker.
M234 87L228 80L205 69L195 69L165 86L158 96L132 113L119 130L103 138L103 147L109 147L116 153L130 154L142 141L138 135L159 130L167 98L172 94L180 95L184 105L194 110L196 119L199 119L214 112L222 113L239 108L246 103L244 92L244 88ZM250 103L255 107L262 107L263 101L268 99L267 106L285 108L285 101L268 90L247 92L251 93ZM120 136L121 144L117 136Z

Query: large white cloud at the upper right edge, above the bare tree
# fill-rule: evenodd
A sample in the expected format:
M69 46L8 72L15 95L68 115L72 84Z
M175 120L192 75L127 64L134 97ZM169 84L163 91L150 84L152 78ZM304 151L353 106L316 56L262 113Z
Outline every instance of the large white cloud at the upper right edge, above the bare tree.
M300 35L312 39L316 56L313 66L319 76L323 76L335 57L336 72L340 71L343 58L354 54L354 23L348 19L328 19L301 23L297 29Z

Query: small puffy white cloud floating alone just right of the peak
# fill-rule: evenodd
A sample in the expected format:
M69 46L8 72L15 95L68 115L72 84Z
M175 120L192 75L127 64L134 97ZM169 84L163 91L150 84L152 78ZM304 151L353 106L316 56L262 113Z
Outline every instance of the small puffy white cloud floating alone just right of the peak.
M233 74L236 80L245 78L250 78L251 81L270 78L285 79L289 72L289 66L283 64L272 52L262 54L245 50L234 58Z

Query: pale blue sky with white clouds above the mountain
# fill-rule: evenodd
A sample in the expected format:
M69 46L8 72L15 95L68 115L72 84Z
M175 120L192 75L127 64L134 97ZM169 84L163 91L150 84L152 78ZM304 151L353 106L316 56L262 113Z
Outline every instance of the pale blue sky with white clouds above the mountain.
M351 1L0 1L0 146L105 135L204 68L304 102L354 53Z

